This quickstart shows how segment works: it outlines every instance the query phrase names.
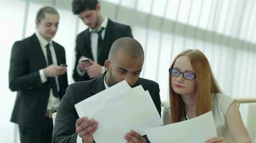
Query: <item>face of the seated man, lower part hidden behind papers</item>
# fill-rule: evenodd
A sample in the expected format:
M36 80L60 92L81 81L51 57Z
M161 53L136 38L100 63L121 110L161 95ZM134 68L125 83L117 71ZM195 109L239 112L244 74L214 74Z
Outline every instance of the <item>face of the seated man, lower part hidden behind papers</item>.
M141 57L130 57L123 51L118 51L114 61L105 61L106 83L109 87L126 80L134 87L134 84L140 78L143 59Z

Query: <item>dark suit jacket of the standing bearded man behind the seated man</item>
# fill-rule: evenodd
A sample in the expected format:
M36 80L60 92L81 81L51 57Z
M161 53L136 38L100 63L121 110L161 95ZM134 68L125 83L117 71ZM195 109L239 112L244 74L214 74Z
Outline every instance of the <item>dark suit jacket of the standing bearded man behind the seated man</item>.
M111 45L114 43L116 39L119 39L123 36L130 36L132 37L132 31L130 26L124 25L124 24L118 24L114 21L111 21L109 19L108 24L106 25L106 31L103 41L103 47L102 47L102 53L99 57L98 64L101 66L104 66L104 61L108 59L109 56L109 50L111 48ZM78 74L77 71L77 65L78 60L81 56L86 56L90 59L93 59L93 54L91 53L91 37L90 37L90 31L89 29L86 29L85 31L82 31L80 34L78 34L76 38L76 62L75 62L75 68L73 70L73 79L75 82L79 81L85 81L89 80L87 74L84 74L83 77L81 77Z

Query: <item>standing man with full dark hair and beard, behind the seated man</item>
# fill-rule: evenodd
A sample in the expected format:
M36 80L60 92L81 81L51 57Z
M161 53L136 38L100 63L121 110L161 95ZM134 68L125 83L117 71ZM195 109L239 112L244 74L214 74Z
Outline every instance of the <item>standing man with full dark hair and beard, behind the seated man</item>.
M118 24L103 16L97 0L73 0L72 10L88 26L76 39L73 79L79 82L103 74L106 70L104 61L108 58L113 42L123 36L132 37L132 31L130 26Z

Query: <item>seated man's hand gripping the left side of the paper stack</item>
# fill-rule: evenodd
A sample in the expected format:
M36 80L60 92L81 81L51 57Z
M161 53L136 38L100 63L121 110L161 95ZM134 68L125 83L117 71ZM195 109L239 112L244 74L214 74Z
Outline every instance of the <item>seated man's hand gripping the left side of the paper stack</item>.
M99 123L94 119L82 117L76 120L76 133L83 139L83 143L92 143L93 133L98 129Z

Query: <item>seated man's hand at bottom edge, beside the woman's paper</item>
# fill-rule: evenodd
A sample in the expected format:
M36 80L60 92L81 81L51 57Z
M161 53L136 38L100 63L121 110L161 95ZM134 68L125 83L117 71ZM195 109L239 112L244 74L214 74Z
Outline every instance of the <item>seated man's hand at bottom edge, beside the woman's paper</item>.
M147 143L140 134L134 131L128 132L124 139L127 140L127 143Z

